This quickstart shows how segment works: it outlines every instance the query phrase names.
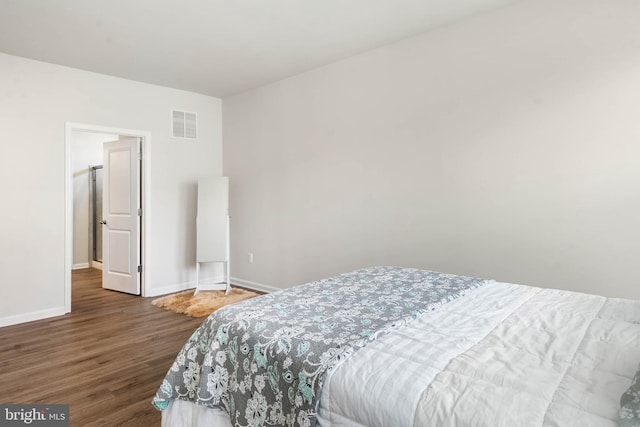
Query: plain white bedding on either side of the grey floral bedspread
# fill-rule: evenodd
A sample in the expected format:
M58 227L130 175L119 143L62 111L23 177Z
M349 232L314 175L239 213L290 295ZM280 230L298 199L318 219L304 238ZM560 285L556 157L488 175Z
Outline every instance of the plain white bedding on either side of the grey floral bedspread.
M640 301L492 283L383 336L325 381L319 426L616 426ZM229 426L174 402L167 427Z

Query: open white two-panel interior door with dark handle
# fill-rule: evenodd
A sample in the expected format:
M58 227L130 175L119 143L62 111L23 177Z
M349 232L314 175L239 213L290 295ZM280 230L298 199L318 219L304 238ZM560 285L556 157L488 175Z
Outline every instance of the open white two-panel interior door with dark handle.
M140 138L107 142L102 176L102 287L140 295Z

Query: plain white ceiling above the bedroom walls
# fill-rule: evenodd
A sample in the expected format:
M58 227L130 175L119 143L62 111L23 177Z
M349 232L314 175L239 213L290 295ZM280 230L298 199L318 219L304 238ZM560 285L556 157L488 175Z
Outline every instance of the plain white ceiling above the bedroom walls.
M515 0L0 0L0 52L226 97Z

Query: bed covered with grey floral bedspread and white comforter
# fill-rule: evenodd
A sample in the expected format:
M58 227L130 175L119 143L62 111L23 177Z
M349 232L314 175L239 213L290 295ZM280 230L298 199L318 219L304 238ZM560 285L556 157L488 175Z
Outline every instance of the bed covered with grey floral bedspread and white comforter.
M371 267L213 313L153 404L178 426L637 426L640 301Z

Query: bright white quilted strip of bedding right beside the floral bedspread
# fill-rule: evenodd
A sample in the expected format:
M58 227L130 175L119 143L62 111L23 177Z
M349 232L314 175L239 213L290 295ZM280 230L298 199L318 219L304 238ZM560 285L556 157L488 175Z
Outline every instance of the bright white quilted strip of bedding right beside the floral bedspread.
M538 292L487 284L369 344L325 382L319 425L412 426L420 396L447 363Z

